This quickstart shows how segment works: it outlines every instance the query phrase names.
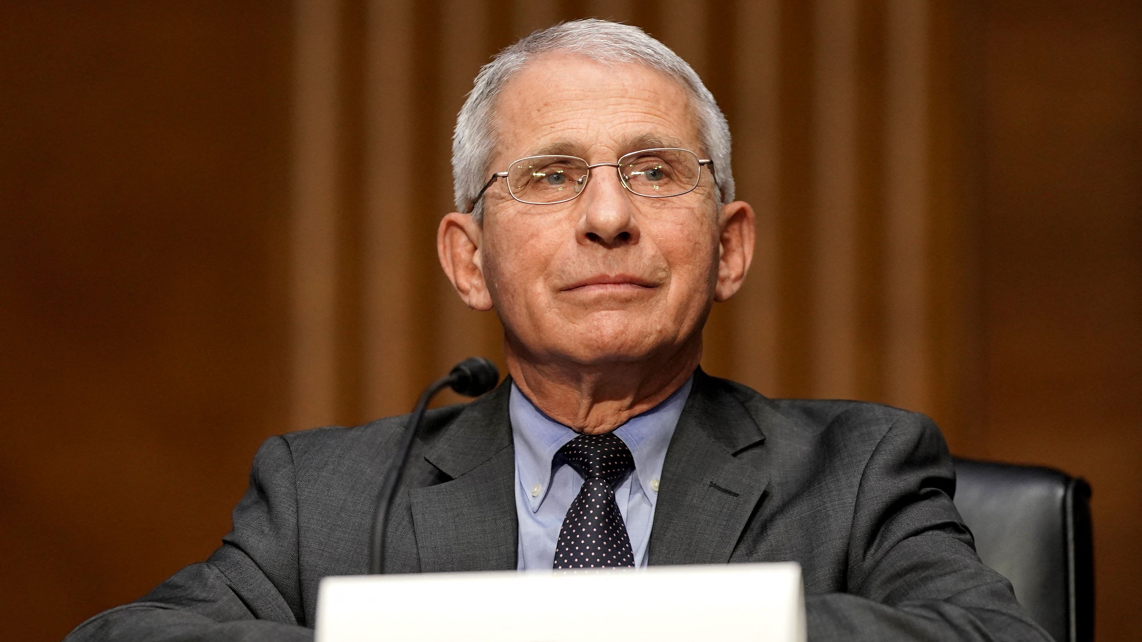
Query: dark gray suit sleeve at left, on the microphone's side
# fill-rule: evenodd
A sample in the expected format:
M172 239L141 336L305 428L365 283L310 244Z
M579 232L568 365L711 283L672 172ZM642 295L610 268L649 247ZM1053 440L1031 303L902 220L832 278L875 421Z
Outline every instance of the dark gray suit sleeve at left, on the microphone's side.
M234 528L206 561L138 602L79 625L65 642L312 641L300 603L297 496L287 441L271 438L254 458Z

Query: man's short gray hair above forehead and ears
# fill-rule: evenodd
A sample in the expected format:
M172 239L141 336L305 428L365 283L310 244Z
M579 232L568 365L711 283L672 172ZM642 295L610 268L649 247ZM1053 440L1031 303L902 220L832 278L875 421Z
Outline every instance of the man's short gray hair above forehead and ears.
M638 63L665 73L685 87L698 115L698 133L714 161L721 202L733 200L730 169L730 126L714 95L685 61L637 26L587 18L537 31L504 49L476 74L456 119L452 135L452 184L457 211L466 211L488 180L489 163L496 151L496 101L512 77L542 54L572 53L604 64ZM483 203L473 216L478 220Z

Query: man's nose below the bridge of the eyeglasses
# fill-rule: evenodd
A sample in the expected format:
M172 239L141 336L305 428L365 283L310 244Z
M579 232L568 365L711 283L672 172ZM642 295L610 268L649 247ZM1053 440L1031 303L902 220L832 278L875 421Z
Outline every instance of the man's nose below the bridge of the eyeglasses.
M616 168L594 167L584 193L576 199L579 222L576 235L581 244L618 248L638 242L638 222L630 193Z

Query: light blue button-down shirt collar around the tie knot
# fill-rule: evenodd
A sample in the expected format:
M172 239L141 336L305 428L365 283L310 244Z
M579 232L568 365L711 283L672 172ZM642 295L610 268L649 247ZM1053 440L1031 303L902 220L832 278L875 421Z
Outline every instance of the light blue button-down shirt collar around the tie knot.
M676 390L665 401L650 410L632 417L614 434L630 449L635 474L653 506L658 491L657 480L662 476L666 450L678 425L678 417L690 396L694 378ZM536 407L523 392L512 384L508 400L512 434L515 442L515 465L518 483L534 513L547 497L552 481L552 462L555 454L579 433L560 424ZM538 492L537 491L538 487Z

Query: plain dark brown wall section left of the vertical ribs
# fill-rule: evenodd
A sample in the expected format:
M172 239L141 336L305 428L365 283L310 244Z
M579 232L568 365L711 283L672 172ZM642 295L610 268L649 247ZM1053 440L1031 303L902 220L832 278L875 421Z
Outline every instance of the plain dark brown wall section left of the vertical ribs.
M0 617L59 640L228 530L288 422L288 6L0 3Z

